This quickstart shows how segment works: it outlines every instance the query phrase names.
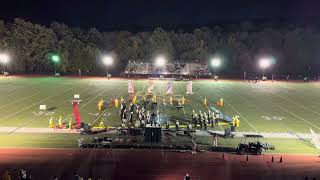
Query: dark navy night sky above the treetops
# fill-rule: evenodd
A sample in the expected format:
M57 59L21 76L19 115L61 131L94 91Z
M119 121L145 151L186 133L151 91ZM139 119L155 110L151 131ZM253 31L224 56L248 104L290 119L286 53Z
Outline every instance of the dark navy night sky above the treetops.
M249 21L320 22L319 0L7 0L0 19L102 30L183 27Z

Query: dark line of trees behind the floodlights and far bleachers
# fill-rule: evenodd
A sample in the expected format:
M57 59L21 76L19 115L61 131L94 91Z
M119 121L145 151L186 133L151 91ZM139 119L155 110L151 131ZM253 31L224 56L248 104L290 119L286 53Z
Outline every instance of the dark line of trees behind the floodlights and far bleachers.
M277 63L274 72L304 73L320 68L320 31L317 26L257 26L250 22L228 27L201 27L192 32L114 31L101 32L72 28L53 22L50 27L17 18L12 23L0 21L0 51L10 54L7 68L16 73L52 72L48 54L57 53L61 72L104 70L101 55L112 53L123 70L129 59L152 59L164 53L175 60L207 62L213 55L224 60L221 71L256 72L259 57L271 55Z

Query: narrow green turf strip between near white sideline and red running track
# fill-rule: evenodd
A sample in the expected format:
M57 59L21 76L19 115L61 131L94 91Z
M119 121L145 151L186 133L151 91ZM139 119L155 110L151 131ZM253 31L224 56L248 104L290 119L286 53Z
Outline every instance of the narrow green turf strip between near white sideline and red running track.
M84 138L85 143L90 143L93 137L109 137L112 139L119 138L125 142L132 137L119 136L116 134L99 134L99 135L80 135L80 134L50 134L50 133L0 133L0 147L32 147L32 148L77 148L79 138ZM171 142L164 144L190 144L190 138L177 137ZM196 138L198 145L202 149L210 149L212 137L198 136ZM286 154L319 154L320 151L315 149L308 141L298 139L284 138L266 138L262 140L276 147L275 150L267 150L265 153L286 153ZM218 145L221 147L236 147L241 142L240 138L218 139Z

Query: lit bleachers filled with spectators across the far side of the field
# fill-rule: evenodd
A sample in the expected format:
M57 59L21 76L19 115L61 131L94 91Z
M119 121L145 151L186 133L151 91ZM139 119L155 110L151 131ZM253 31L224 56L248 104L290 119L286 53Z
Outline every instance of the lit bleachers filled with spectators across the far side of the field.
M167 63L164 67L157 67L151 62L130 60L124 74L174 74L174 75L209 75L207 64L188 63L182 61Z

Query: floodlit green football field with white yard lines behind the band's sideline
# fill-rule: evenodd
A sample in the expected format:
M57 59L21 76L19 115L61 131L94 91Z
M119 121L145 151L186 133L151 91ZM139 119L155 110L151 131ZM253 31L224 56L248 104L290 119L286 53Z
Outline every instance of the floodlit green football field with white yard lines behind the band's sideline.
M240 116L238 131L308 133L309 128L320 132L320 84L240 81L193 81L193 94L185 95L186 82L174 82L173 97L184 95L184 108L159 108L162 119L190 120L192 110L207 111L218 108L225 115ZM167 81L154 82L154 94L159 99L166 95ZM80 94L82 121L98 125L102 120L108 126L120 126L119 109L108 107L99 112L97 102L103 98L123 96L128 98L128 80L73 79L73 78L0 78L0 127L48 127L48 119L59 116L67 122L72 116L74 94ZM143 97L147 91L146 80L135 80L135 93ZM224 107L215 106L222 97ZM47 105L40 112L39 105ZM128 105L127 105L128 106ZM56 120L57 123L57 120ZM215 130L222 130L217 126Z

